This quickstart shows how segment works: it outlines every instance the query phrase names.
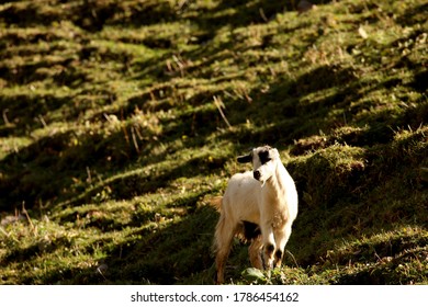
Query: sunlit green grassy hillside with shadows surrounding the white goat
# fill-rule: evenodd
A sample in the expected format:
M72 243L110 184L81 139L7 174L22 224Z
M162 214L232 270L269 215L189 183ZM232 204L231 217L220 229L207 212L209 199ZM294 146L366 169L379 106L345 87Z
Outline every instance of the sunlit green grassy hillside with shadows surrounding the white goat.
M227 281L427 284L428 2L297 2L1 1L0 283L213 283L210 198L269 144L289 252Z

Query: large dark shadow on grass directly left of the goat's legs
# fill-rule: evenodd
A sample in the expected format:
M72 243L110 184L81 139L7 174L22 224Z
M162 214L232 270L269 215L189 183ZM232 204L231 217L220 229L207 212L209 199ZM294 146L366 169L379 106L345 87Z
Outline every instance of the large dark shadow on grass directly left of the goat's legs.
M120 245L93 241L92 246L101 248L105 254L97 266L47 271L37 283L180 284L192 283L189 282L192 275L205 272L204 283L212 284L214 271L210 269L213 265L211 245L216 218L213 208L201 207L168 226L153 224L136 229ZM88 248L87 252L91 252ZM15 254L21 259L31 259L36 257L37 247ZM20 283L32 284L34 281L22 277Z

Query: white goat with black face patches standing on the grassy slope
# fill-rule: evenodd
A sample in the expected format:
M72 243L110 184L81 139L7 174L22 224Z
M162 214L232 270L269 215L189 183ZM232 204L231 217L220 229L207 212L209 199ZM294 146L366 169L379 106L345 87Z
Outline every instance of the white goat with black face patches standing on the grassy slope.
M238 162L252 162L252 171L233 175L216 206L221 213L214 249L216 282L224 282L233 238L250 241L251 265L280 266L291 226L297 215L297 191L275 148L258 147Z

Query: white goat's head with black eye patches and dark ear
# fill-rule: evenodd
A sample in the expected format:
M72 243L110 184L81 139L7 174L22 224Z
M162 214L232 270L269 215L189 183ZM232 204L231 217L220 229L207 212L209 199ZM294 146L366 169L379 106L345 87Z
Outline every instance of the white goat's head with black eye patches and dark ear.
M254 148L246 156L238 157L238 162L252 162L252 174L255 179L264 184L273 175L279 158L280 154L275 148L262 146Z

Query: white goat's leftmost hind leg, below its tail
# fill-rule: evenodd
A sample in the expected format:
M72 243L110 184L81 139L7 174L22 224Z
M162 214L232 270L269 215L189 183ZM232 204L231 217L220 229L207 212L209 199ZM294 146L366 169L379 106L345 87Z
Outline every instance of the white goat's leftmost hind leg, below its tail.
M219 217L215 228L215 266L216 266L216 283L224 283L224 271L226 261L230 252L232 240L234 239L236 226L227 223L224 216Z

